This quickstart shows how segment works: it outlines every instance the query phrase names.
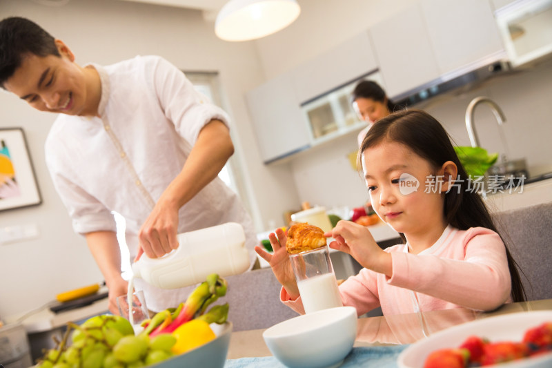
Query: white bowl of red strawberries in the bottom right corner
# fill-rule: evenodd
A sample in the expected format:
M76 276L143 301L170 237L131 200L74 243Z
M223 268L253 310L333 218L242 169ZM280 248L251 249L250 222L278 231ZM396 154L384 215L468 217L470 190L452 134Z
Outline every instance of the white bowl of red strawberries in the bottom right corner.
M489 317L439 331L404 349L400 368L552 367L552 311Z

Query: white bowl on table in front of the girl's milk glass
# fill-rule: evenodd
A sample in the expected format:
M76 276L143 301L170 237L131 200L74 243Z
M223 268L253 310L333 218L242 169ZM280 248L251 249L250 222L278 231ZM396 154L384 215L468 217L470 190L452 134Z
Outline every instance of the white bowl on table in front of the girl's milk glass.
M272 354L289 368L341 365L357 336L357 310L336 307L280 322L263 333Z

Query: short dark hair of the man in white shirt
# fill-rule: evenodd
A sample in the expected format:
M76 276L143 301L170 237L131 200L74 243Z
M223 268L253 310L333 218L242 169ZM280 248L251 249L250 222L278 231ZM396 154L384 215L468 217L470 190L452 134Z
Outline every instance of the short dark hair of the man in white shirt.
M21 66L28 54L39 57L59 55L55 39L37 23L21 17L0 21L0 86Z

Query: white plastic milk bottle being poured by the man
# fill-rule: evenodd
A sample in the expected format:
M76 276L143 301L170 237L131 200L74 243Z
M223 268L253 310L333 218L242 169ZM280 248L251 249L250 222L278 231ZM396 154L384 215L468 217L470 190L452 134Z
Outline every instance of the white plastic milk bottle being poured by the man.
M236 222L181 233L177 240L178 248L161 258L142 255L132 264L134 277L160 289L177 289L204 282L211 273L225 277L249 268L244 228Z

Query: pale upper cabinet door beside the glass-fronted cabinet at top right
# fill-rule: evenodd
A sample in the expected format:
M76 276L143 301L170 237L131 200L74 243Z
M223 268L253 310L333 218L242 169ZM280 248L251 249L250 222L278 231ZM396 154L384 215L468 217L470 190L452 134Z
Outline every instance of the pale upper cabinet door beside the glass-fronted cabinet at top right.
M504 57L489 1L422 0L421 6L441 75Z

